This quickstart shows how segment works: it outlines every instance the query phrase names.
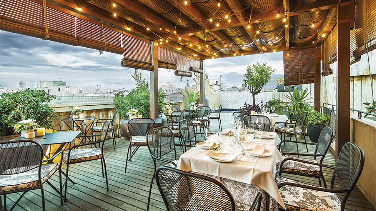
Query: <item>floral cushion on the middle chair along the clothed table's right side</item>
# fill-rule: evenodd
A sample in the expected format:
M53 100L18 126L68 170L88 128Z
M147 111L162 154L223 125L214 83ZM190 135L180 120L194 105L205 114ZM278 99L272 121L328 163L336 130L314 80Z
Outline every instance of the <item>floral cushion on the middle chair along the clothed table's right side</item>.
M299 157L291 157L291 156L283 156L286 158L294 158L298 160L305 160L309 162L315 162L316 160L310 160L310 159L303 159ZM303 163L295 160L287 160L283 163L282 166L282 173L293 173L293 174L299 174L299 175L310 175L310 176L320 176L320 166L318 165L312 165L308 163Z

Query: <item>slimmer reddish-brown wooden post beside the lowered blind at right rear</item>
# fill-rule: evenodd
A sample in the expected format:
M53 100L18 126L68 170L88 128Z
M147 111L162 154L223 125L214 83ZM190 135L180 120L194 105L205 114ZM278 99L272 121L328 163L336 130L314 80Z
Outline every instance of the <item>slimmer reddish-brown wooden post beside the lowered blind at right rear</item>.
M321 102L321 46L315 47L315 72L314 72L314 106L320 112Z

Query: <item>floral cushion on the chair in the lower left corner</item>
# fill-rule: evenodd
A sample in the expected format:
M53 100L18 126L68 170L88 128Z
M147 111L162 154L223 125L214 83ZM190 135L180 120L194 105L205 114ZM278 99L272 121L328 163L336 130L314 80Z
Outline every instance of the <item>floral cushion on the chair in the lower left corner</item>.
M0 192L19 190L39 186L38 166L13 175L0 175ZM41 180L44 183L59 169L58 163L45 164L41 167Z

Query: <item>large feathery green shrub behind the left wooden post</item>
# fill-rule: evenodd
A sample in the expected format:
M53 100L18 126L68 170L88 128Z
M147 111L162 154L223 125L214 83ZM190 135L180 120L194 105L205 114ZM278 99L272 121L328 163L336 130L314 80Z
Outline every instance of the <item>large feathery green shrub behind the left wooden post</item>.
M132 75L136 88L132 89L128 95L116 93L113 101L120 116L127 117L130 109L136 109L142 117L150 117L150 89L149 83L142 78L141 73ZM162 89L158 90L158 110L163 112L165 94Z

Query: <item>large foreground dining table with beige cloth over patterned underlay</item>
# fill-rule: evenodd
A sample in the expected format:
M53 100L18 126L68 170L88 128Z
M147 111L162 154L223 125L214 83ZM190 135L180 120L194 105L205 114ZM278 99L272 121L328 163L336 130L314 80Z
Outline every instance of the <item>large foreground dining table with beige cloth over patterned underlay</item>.
M247 153L243 159L235 159L232 162L215 161L207 153L208 149L193 147L183 153L177 163L177 168L184 171L210 176L223 183L233 195L235 201L251 205L258 192L263 194L262 210L278 210L278 205L285 208L282 197L279 193L274 177L277 173L277 166L283 157L277 145L281 142L274 132L266 132L273 136L270 139L256 138L254 134L247 134L247 141L243 148L252 149L257 145L265 146L271 152L267 157L251 156ZM214 134L208 137L207 141L215 141L220 146L216 152L232 153L226 135ZM245 151L244 150L244 151ZM243 152L244 152L243 151Z

